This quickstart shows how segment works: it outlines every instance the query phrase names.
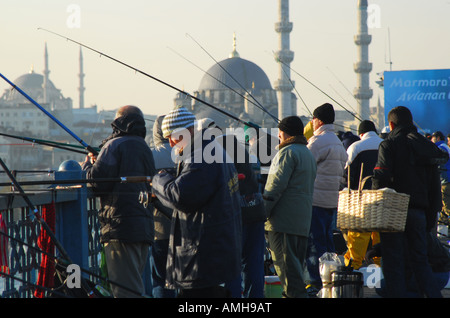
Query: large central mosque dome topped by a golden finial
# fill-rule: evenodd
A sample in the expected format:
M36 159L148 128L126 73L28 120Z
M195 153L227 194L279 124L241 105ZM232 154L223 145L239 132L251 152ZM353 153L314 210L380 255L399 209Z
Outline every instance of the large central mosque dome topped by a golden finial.
M235 37L229 57L205 72L194 95L216 108L195 100L192 110L197 118L211 118L220 127L239 126L238 117L252 118L261 126L273 125L267 113L277 113L276 91L269 78L258 65L239 56Z

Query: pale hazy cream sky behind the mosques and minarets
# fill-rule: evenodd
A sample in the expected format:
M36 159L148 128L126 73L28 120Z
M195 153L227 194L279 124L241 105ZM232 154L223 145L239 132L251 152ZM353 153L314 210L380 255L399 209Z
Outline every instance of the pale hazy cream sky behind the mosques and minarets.
M389 70L389 47L393 70L450 67L450 1L369 4L374 9L369 29L372 105L383 98L375 81L378 72ZM290 0L291 76L311 111L330 99L298 74L345 107L356 108L349 93L356 84L356 6L357 0ZM47 43L50 80L78 107L79 47L38 30L46 28L192 94L205 75L199 68L206 71L215 63L192 38L220 61L232 51L235 32L241 58L261 67L273 85L278 78L273 58L279 49L276 22L278 0L1 0L0 72L11 81L31 67L42 74ZM85 107L97 104L106 110L134 104L155 115L173 107L175 90L87 49L83 56ZM1 93L9 88L0 82ZM308 113L300 99L297 105L299 114Z

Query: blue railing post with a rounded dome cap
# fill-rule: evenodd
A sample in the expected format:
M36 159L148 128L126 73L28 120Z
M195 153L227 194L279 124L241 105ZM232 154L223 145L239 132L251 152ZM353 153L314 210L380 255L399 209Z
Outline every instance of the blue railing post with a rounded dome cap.
M85 179L86 172L78 162L67 160L55 172L55 180ZM68 185L64 185L68 186ZM89 268L89 235L86 184L78 184L78 199L56 206L56 235L69 254L73 263L81 268Z

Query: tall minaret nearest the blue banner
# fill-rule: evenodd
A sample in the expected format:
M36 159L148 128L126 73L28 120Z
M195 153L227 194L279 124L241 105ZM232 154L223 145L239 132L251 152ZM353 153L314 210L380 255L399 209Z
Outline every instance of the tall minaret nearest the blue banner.
M372 63L369 63L369 44L372 36L368 34L367 26L367 0L358 0L358 34L354 40L358 50L359 60L354 64L356 73L356 87L353 94L358 102L357 112L362 120L370 117L370 98L373 91L369 86L369 73Z

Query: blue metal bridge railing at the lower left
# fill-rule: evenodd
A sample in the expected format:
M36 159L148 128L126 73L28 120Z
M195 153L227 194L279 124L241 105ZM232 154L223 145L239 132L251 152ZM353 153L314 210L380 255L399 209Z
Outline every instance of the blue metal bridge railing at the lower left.
M82 171L58 171L57 179L83 179ZM98 199L86 186L53 186L38 191L26 191L26 195L45 220L43 212L51 208L54 211L54 234L86 277L93 283L100 283L99 223L97 219ZM7 256L6 267L0 274L0 297L32 298L37 289L44 290L44 297L51 289L39 288L37 285L39 271L44 256L50 261L58 259L55 248L50 254L38 242L42 231L41 225L33 215L18 192L0 193L0 213L6 230L0 233L0 252ZM48 222L47 222L48 223ZM44 242L45 244L45 242ZM0 264L1 265L1 264Z

